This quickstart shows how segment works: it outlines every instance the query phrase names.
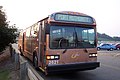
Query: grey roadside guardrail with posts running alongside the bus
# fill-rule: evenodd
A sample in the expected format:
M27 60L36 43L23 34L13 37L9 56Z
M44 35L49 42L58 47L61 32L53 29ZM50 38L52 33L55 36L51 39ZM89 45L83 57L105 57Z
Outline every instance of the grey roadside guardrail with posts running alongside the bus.
M20 55L20 51L15 45L17 44L10 45L10 54L15 64L15 70L20 70L20 80L44 80L28 61Z

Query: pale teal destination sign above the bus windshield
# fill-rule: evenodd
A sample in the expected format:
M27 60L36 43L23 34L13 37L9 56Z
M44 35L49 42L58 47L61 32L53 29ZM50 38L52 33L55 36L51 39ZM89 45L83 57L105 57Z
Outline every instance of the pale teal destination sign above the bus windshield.
M68 21L68 22L80 22L80 23L93 23L93 19L89 16L70 15L70 14L56 14L55 20Z

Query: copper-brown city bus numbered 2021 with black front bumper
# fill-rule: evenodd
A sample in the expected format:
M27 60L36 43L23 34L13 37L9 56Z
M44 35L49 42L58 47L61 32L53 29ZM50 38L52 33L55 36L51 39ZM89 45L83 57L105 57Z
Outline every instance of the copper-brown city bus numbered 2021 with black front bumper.
M55 12L34 23L20 33L18 47L45 74L100 66L95 19L79 12Z

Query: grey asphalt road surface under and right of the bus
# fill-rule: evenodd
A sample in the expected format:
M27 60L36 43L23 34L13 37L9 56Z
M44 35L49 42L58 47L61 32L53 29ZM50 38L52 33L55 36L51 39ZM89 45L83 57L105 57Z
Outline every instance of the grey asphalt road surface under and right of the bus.
M45 76L45 80L120 80L120 51L98 51L101 66L95 70Z

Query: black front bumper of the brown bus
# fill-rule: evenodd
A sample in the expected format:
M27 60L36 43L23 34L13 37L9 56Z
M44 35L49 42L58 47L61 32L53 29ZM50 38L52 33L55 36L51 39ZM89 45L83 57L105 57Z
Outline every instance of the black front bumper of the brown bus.
M72 64L48 65L47 73L92 70L96 69L99 66L100 62L85 62L85 63L80 62Z

